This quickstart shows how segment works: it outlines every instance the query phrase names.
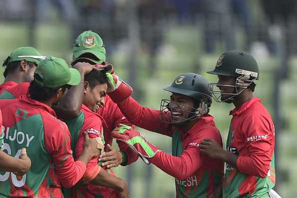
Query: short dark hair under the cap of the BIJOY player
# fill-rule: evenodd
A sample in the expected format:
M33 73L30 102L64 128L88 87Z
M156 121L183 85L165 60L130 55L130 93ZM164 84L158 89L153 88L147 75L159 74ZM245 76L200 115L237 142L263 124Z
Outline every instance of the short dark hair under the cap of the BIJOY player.
M62 88L62 91L65 91L66 88L71 87L70 85L63 85L61 87L54 87L54 88L43 87L35 81L35 78L38 78L38 77L40 78L39 75L34 75L34 80L30 82L28 93L27 93L28 97L35 99L37 101L46 101L54 94L56 94L59 88Z

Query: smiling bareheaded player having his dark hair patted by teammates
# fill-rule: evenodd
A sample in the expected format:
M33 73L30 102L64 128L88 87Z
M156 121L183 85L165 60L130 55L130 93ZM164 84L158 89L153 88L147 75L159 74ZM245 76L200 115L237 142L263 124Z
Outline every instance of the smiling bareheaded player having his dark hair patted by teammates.
M109 74L111 75L111 74ZM84 97L79 115L66 121L71 134L71 147L74 158L81 155L84 145L84 132L89 137L103 138L104 119L97 114L98 108L105 103L109 80L104 70L93 69L84 76ZM102 141L102 149L104 143ZM85 185L72 187L72 195L64 193L64 197L129 197L127 184L124 180L108 173L109 169L98 165L98 157L93 158L87 165L83 176ZM102 185L102 186L99 186ZM106 187L104 187L106 186ZM65 191L65 190L64 190Z

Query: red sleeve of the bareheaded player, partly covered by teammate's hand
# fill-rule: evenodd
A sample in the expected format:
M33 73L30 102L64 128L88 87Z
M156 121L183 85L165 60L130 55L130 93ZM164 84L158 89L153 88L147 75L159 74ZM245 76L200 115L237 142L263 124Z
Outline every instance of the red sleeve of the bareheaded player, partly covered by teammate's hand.
M100 118L95 114L90 115L90 113L88 113L88 115L89 116L85 117L83 126L79 133L79 137L75 147L75 151L76 151L75 158L78 158L83 151L84 141L85 141L84 139L85 131L88 133L90 138L101 137L101 135L103 135L102 122ZM83 181L88 182L93 180L100 172L100 169L101 169L101 166L98 165L98 157L93 157L87 165L86 172L82 177Z

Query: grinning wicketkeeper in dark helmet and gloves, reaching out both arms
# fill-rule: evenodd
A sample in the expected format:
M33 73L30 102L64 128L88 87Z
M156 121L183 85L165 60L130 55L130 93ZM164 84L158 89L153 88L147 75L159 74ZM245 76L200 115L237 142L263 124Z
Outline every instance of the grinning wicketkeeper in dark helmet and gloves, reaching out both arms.
M115 76L109 93L133 124L172 137L172 155L161 151L136 130L122 126L112 132L126 142L146 163L153 163L175 177L176 197L218 197L223 178L223 162L200 153L199 144L213 139L222 147L222 138L208 114L211 92L208 81L197 73L183 73L164 88L170 99L161 100L161 109L141 106L131 96L131 87Z

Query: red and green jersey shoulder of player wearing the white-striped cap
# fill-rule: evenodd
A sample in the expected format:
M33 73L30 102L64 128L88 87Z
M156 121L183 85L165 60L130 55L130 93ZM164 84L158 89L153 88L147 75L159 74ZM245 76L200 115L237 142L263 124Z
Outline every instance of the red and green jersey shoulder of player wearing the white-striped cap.
M0 85L0 99L14 99L26 95L29 85L29 82L19 84L14 81L5 82Z

